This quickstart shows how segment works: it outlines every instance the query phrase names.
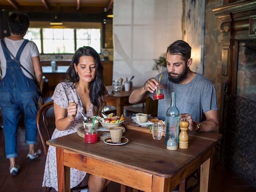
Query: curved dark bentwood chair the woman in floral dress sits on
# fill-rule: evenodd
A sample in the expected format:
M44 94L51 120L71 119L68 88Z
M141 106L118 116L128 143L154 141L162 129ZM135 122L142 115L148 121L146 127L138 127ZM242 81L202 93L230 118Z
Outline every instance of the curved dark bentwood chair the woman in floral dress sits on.
M51 139L51 133L49 130L49 122L50 121L47 121L47 119L49 120L49 118L50 118L49 115L47 115L47 112L51 108L53 108L53 101L49 101L49 102L45 103L44 105L42 105L41 108L39 109L39 111L37 112L37 116L36 116L36 127L37 127L37 131L39 133L42 145L43 145L45 160L46 160L47 151L48 151L46 141ZM43 120L43 126L41 126L41 122L40 122L41 119ZM54 118L52 121L54 122L54 126L55 126ZM85 185L82 187L74 187L71 189L71 191L80 191L82 189L87 189L87 188L88 188L88 185ZM51 190L52 190L52 188L46 187L47 192L49 192Z

